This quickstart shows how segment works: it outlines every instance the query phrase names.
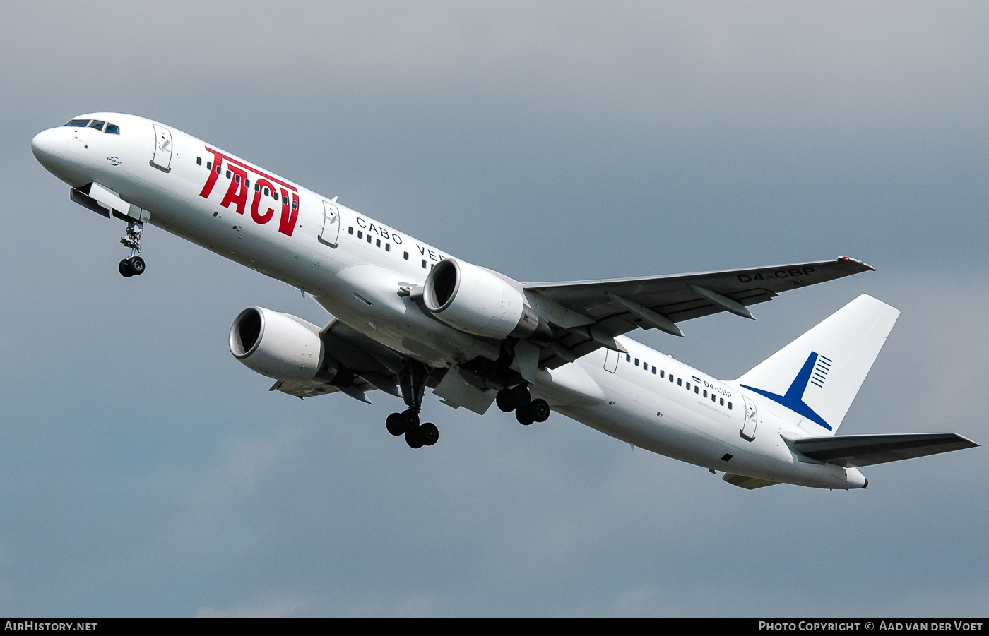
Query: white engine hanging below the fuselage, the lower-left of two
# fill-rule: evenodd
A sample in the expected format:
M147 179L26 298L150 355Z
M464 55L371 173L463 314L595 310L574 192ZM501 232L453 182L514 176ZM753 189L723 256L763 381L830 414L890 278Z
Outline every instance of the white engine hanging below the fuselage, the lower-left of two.
M277 380L330 381L339 364L325 353L319 328L264 307L241 311L230 327L230 353L247 368Z

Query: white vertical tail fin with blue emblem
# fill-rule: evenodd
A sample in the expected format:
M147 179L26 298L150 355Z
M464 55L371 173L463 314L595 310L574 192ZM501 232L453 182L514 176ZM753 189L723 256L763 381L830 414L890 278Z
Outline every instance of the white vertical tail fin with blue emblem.
M835 435L899 315L862 294L736 381Z

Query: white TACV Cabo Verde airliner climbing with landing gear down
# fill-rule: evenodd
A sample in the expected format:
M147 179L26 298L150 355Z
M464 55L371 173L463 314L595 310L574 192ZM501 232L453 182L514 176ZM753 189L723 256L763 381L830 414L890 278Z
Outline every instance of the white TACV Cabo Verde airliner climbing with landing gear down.
M90 113L38 133L38 161L69 199L126 221L118 269L141 275L145 223L302 290L322 327L249 307L229 349L308 398L401 398L386 429L412 448L430 389L525 426L551 411L610 437L723 473L745 489L779 483L865 488L860 467L977 446L954 433L839 436L899 311L860 295L734 380L717 379L625 334L730 312L873 270L850 257L697 274L524 282L456 258L159 121Z

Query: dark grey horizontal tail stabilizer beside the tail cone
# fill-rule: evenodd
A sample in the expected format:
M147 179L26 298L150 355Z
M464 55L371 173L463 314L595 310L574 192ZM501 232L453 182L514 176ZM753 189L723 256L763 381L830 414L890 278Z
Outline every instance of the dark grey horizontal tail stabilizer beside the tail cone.
M851 468L899 461L979 445L956 433L801 437L789 442L811 459Z

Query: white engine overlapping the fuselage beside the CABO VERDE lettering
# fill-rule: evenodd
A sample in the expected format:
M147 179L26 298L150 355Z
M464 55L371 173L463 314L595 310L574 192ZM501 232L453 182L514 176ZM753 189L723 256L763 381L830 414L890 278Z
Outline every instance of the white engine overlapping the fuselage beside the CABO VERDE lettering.
M446 324L475 336L532 338L552 334L522 292L489 270L446 259L426 277L422 302ZM545 334L543 333L545 332Z

